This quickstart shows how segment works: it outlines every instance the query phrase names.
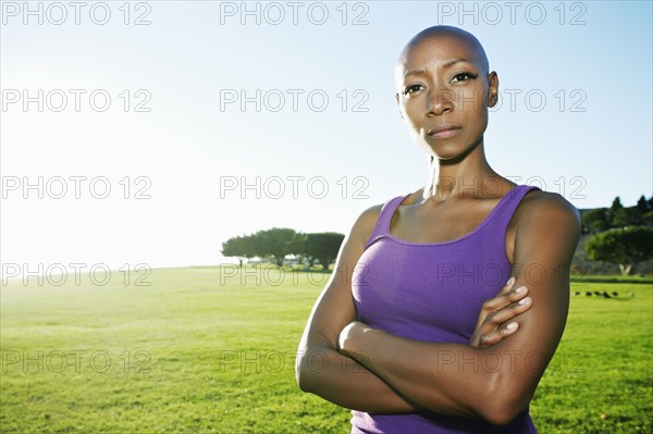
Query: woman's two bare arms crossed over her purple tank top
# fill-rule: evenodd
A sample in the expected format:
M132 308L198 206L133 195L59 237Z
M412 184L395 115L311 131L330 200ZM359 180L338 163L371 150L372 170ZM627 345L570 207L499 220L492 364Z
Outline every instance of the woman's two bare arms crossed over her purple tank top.
M513 420L534 394L562 337L568 270L580 232L577 211L557 195L542 194L520 208L510 287L528 286L532 303L515 303L525 293L504 287L481 312L469 345L407 339L355 321L350 270L365 246L359 235L371 220L364 213L309 318L297 358L299 387L367 412L429 410L495 424ZM519 333L504 323L512 317Z

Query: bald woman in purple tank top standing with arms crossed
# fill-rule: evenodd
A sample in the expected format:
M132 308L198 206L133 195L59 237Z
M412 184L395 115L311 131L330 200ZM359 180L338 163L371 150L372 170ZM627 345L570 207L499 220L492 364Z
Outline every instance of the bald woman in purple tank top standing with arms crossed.
M355 222L297 382L353 409L353 433L534 433L528 405L564 331L578 211L488 163L498 77L472 35L422 30L395 75L429 181Z

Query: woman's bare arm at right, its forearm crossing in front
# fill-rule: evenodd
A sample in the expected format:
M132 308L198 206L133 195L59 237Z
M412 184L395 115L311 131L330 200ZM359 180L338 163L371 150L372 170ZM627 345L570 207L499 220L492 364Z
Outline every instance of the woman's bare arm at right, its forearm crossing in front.
M513 271L532 308L518 315L520 332L509 339L489 348L423 343L354 322L340 336L341 350L418 406L506 424L532 398L562 337L579 233L578 212L558 195L523 203Z

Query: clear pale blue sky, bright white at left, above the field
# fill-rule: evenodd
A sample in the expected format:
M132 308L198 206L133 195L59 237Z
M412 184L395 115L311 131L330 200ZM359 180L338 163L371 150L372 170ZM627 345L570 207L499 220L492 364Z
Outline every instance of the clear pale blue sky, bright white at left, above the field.
M578 208L653 194L649 1L243 4L2 2L3 264L218 264L232 236L348 232L427 179L393 74L436 24L498 73L498 173Z

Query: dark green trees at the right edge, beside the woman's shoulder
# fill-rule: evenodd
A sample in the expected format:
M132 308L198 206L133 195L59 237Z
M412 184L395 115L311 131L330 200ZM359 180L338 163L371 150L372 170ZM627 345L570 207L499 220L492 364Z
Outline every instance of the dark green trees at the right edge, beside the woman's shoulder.
M653 196L624 207L617 196L609 208L580 210L581 232L591 235L584 251L593 261L619 265L623 275L653 259Z

